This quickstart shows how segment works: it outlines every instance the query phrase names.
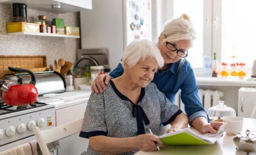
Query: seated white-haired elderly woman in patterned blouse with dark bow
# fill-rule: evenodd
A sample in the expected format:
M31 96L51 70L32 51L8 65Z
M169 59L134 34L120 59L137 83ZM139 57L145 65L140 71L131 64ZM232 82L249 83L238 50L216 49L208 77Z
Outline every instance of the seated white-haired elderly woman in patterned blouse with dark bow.
M89 138L83 154L135 154L154 151L161 140L159 124L184 128L187 116L150 83L164 65L160 51L148 40L131 42L123 54L124 72L104 93L90 96L81 137Z

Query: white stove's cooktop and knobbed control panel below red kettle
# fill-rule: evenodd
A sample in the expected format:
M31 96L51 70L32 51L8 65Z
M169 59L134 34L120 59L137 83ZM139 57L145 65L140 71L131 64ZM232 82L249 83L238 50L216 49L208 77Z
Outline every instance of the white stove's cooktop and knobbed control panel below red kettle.
M36 102L25 107L0 104L0 152L12 143L30 141L33 129L55 127L54 105Z

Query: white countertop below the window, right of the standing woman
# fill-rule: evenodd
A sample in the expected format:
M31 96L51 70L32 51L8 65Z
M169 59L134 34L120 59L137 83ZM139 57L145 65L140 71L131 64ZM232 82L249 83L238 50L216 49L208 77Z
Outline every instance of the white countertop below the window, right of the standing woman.
M238 77L196 77L199 86L236 86L236 87L256 87L256 81L238 79ZM247 78L249 79L249 78Z

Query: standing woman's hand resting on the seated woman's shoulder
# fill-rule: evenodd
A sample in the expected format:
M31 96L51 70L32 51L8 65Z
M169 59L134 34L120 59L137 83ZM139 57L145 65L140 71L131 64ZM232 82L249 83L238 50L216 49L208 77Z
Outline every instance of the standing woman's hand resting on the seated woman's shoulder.
M103 93L106 89L104 82L108 85L109 81L110 76L108 74L100 74L96 76L96 79L92 83L92 93Z

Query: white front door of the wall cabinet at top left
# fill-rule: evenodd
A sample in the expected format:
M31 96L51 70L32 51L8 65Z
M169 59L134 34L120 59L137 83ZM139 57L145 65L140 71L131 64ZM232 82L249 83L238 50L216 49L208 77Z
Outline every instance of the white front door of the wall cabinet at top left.
M85 9L92 9L92 0L53 0L59 1L61 3L66 3L69 5L74 5L76 7L83 7Z

